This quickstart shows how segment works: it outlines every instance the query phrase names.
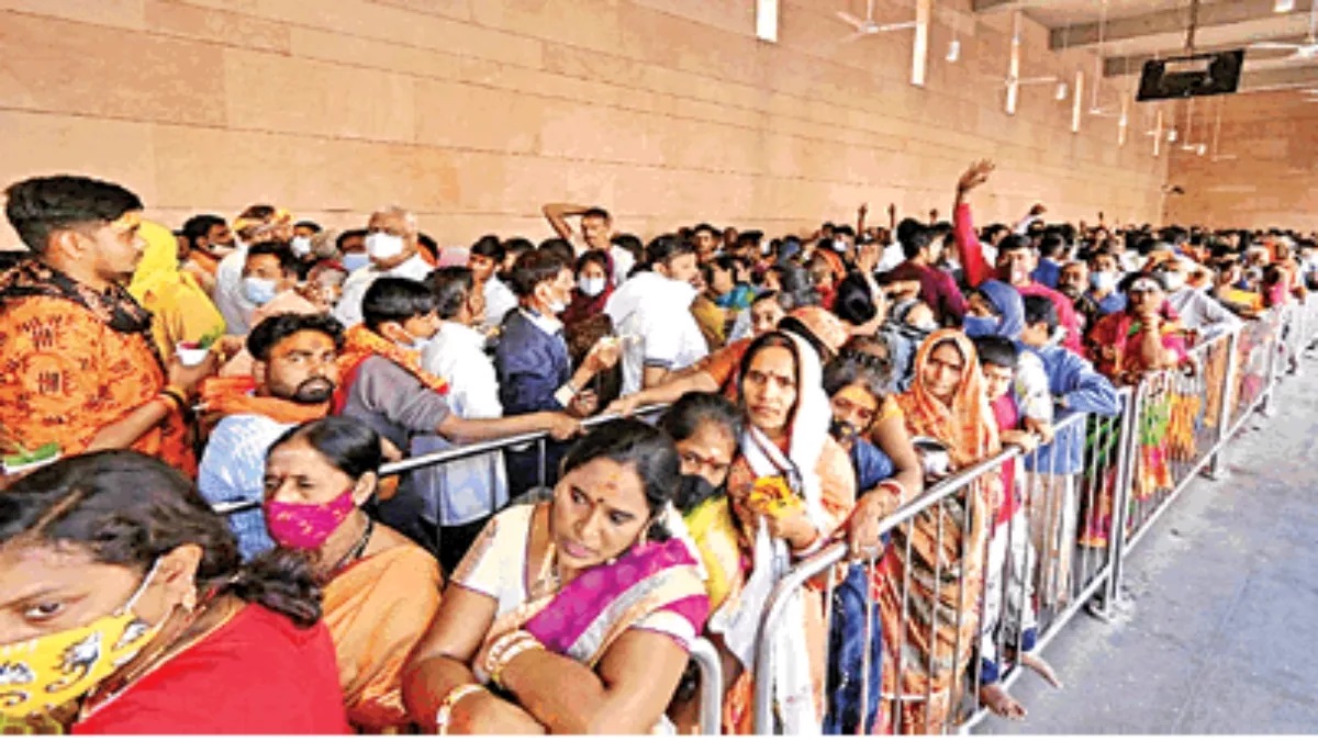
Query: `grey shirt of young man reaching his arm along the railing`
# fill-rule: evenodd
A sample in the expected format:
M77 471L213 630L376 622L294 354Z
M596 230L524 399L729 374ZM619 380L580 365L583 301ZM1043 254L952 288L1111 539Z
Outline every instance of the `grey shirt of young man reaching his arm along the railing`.
M413 435L434 435L448 414L443 396L380 356L361 363L343 407L344 417L365 422L402 451Z

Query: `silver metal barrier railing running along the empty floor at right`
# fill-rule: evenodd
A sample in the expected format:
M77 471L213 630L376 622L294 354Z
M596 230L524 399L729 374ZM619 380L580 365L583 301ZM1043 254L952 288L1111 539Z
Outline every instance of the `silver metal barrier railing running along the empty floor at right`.
M873 585L865 613L878 609L883 626L863 654L866 662L880 662L883 672L878 687L870 687L869 671L861 676L863 720L846 732L969 732L990 712L981 690L992 683L1010 688L1025 655L1043 650L1086 604L1098 617L1110 616L1133 547L1195 476L1224 473L1222 456L1232 436L1252 413L1267 413L1288 367L1296 369L1315 341L1318 299L1268 311L1191 348L1188 365L1120 389L1116 415L1060 422L1058 438L1085 432L1079 472L1074 465L1058 469L1056 452L1041 461L1039 451L1008 448L883 519L879 527L891 543L882 558L863 562ZM971 502L986 479L1004 471L1014 472L1015 490L1007 496L1020 497L1019 509L996 527L975 526L974 508L957 502ZM949 512L957 517L949 518ZM960 530L952 527L957 518ZM782 725L772 636L800 630L782 622L783 605L801 589L821 589L824 620L836 620L828 610L837 587L834 567L849 558L844 545L833 545L797 563L771 593L754 665L755 733L772 734ZM832 676L837 654L832 632L828 636L824 655ZM966 645L969 637L973 646ZM832 686L826 690L825 719L837 711ZM882 723L867 715L873 692L886 703ZM923 719L912 719L912 712Z

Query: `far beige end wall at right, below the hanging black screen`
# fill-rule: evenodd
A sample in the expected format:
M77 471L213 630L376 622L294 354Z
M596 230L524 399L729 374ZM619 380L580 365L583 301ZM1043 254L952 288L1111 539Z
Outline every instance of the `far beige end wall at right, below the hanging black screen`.
M1172 154L1169 182L1185 195L1168 198L1168 220L1318 231L1318 103L1297 91L1198 102L1195 141L1211 144L1219 107L1217 152ZM1178 111L1184 123L1184 104Z

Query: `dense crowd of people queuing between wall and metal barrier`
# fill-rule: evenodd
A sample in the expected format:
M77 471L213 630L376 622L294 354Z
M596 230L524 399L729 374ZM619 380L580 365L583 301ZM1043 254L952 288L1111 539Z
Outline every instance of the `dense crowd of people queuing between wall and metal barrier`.
M992 170L962 174L950 223L862 206L809 236L643 241L551 203L539 244L443 249L401 207L171 232L115 183L11 185L3 725L685 733L708 638L745 734L766 599L836 542L837 587L767 637L784 732L946 730L970 675L1020 717L1003 663L1056 680L1035 610L1114 526L1110 497L1077 498L1083 426L1060 421L1114 417L1120 386L1304 299L1318 243L1041 204L977 228ZM1004 446L1032 455L880 527Z

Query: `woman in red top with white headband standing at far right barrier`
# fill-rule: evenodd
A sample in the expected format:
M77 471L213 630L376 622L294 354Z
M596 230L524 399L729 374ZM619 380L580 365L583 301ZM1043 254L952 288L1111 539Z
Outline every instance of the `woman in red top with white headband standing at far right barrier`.
M1097 348L1094 367L1114 384L1137 385L1148 373L1176 368L1188 359L1186 331L1177 320L1176 311L1166 306L1166 286L1157 273L1135 273L1124 282L1128 303L1124 311L1108 314L1090 330L1090 340ZM1148 501L1160 490L1169 490L1174 481L1168 461L1168 432L1174 403L1161 384L1147 393L1140 405L1137 434L1139 459L1133 476L1136 501ZM1184 415L1182 415L1184 417ZM1094 512L1086 516L1082 546L1107 546L1112 526L1112 487L1104 483L1103 492L1094 502Z

